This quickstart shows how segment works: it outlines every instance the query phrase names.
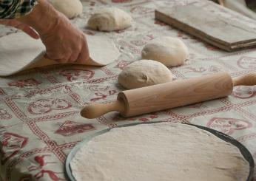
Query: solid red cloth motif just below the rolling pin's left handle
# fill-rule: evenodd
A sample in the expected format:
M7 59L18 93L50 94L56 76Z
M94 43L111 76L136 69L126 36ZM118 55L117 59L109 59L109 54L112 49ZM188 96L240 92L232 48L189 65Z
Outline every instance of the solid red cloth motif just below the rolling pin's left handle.
M94 129L94 126L92 126L91 124L77 123L71 120L67 120L60 126L60 128L55 133L67 137L74 134L88 132Z

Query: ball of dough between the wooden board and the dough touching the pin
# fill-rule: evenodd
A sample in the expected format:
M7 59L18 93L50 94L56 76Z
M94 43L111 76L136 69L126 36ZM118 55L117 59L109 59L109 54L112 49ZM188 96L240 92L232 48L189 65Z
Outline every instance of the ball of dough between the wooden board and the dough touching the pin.
M141 57L160 61L166 66L180 66L189 56L186 44L178 38L164 36L155 38L142 49Z

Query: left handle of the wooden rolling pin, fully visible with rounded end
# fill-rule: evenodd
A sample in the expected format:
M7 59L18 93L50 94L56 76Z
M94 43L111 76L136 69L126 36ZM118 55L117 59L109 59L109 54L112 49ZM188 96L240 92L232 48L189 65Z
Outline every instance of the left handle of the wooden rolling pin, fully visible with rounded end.
M112 103L92 103L81 110L82 117L93 119L101 117L108 112L124 112L125 106L122 100L115 100Z

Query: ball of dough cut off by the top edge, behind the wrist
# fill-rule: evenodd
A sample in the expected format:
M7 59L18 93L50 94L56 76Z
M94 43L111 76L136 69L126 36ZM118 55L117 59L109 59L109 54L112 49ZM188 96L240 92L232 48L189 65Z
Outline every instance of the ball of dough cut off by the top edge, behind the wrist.
M48 0L56 10L63 13L67 18L75 18L83 12L83 5L79 0Z

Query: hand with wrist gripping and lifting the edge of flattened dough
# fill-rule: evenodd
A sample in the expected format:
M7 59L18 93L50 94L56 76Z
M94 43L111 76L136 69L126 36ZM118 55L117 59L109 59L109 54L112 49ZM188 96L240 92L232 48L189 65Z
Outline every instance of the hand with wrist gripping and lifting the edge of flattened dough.
M84 33L73 27L70 20L59 13L46 0L38 4L27 16L18 21L33 27L46 47L46 57L59 63L83 64L89 59Z

